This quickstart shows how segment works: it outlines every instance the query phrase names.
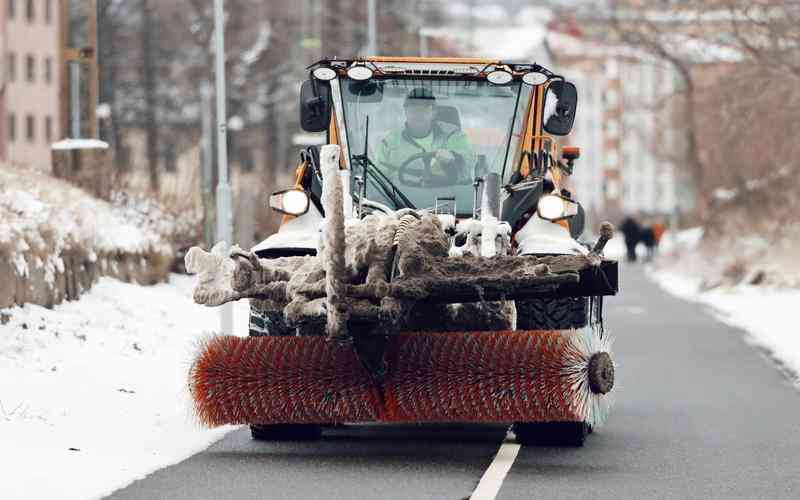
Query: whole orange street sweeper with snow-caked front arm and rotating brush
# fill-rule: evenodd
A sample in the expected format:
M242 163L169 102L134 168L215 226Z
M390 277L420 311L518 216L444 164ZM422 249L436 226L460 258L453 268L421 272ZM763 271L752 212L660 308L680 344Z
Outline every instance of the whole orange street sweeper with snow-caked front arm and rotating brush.
M535 63L326 59L300 122L327 144L274 193L277 233L193 248L196 302L250 300L249 336L206 339L199 420L255 439L326 426L502 423L523 444L583 444L614 385L602 304L613 228L581 239L567 189L575 86Z

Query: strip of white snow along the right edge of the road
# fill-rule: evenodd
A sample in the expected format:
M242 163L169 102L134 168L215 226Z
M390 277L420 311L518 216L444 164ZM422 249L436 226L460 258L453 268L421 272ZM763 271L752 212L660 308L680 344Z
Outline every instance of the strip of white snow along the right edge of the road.
M746 340L765 349L800 382L800 337L796 313L800 289L737 285L701 292L701 279L672 269L651 269L650 277L669 293L711 307L723 323L747 332Z

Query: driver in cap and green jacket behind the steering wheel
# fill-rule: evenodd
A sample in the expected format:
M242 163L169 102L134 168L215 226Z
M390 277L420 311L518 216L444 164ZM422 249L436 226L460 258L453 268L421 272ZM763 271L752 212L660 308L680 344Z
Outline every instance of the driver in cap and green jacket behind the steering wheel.
M419 153L430 153L430 175L452 182L468 180L468 166L475 164L467 135L456 125L434 118L436 97L430 89L417 87L406 95L406 123L391 131L378 146L378 165L389 177ZM422 159L420 161L423 161Z

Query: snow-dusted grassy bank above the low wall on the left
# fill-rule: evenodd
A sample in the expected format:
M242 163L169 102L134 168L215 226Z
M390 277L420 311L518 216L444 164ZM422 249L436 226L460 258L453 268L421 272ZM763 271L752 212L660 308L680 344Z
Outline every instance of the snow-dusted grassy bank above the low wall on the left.
M66 181L0 166L0 306L63 297L53 289L63 284L67 255L79 268L99 260L102 271L114 271L123 256L137 264L140 257L169 259L177 235L196 234L199 220L200 214L170 215L147 198L117 193L109 203ZM28 287L40 293L20 292Z

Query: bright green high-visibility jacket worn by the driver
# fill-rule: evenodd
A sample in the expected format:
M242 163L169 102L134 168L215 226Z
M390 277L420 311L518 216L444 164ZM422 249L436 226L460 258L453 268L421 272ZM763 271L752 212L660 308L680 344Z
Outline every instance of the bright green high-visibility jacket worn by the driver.
M424 138L414 138L408 133L406 127L390 132L378 145L376 158L378 168L389 178L396 178L398 169L414 155L435 153L440 149L445 149L455 157L452 165L442 165L438 160L433 160L431 172L442 176L454 173L456 175L454 181L470 179L469 170L475 166L475 154L467 135L455 125L440 121L433 122L431 134L432 138L430 135ZM418 168L416 162L413 166Z

